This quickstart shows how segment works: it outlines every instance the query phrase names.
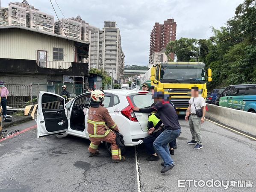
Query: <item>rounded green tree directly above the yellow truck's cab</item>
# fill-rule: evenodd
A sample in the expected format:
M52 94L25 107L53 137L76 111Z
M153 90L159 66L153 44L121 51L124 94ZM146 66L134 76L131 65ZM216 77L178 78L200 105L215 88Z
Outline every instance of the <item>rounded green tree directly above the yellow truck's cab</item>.
M194 56L191 51L198 51L196 39L180 38L179 40L170 41L166 46L165 54L169 55L171 52L177 56L177 61L190 61L190 57Z

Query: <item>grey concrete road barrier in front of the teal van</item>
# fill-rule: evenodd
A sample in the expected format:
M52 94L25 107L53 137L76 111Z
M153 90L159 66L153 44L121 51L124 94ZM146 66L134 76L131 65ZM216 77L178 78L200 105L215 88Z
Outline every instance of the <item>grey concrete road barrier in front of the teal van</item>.
M245 133L256 137L256 113L211 104L206 105L209 109L209 111L206 111L206 118L244 131Z

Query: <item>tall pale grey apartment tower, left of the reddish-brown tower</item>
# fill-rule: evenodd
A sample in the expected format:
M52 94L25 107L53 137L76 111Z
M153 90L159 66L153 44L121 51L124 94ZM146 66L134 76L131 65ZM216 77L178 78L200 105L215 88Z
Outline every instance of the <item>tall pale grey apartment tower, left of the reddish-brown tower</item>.
M103 30L90 31L89 68L103 68L116 82L124 76L124 52L115 21L105 21Z

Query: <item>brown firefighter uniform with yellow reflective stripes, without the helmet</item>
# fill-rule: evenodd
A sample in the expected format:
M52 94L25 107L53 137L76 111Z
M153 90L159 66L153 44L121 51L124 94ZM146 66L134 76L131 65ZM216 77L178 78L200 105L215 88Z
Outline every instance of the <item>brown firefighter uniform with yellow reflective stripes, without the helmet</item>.
M112 159L121 160L121 150L116 144L116 135L112 131L118 130L118 127L109 115L109 111L101 105L98 108L90 107L87 124L91 141L88 150L91 153L95 153L101 141L106 141L111 143Z

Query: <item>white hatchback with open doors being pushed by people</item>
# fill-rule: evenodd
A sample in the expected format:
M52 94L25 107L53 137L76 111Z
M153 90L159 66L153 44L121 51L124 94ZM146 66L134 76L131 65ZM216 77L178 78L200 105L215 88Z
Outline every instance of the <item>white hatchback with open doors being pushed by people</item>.
M152 94L140 90L105 90L104 107L124 135L125 146L135 146L147 137L147 113L135 113L132 108L150 107ZM37 112L37 137L68 134L89 139L87 131L88 105L91 92L75 97L65 105L65 99L55 93L40 91ZM65 108L64 108L65 106ZM105 143L110 150L110 145Z

